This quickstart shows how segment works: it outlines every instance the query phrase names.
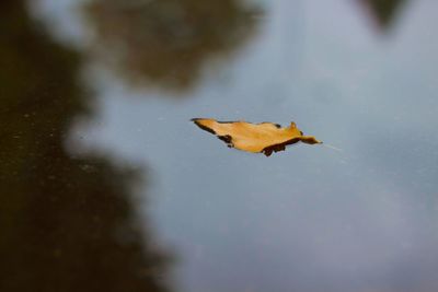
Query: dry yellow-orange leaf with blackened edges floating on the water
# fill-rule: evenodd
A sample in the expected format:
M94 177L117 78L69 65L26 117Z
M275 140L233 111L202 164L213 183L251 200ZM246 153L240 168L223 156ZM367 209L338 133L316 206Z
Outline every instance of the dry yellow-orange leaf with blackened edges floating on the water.
M286 145L303 142L307 144L322 143L313 136L303 136L292 121L289 127L281 128L278 124L246 121L218 121L211 118L192 119L199 128L224 141L229 148L264 153L269 156L273 151L278 152Z

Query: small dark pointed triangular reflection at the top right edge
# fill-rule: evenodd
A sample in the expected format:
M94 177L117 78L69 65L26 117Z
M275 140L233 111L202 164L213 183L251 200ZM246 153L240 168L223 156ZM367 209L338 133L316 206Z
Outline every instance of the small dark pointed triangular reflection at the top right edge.
M370 11L380 30L391 27L400 8L406 0L360 0Z

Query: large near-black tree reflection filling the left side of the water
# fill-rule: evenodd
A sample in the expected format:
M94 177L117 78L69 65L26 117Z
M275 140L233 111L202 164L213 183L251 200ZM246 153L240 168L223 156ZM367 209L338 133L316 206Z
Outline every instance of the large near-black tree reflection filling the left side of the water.
M80 56L23 1L1 1L0 15L0 291L169 291L168 256L134 223L139 173L65 151L87 112Z

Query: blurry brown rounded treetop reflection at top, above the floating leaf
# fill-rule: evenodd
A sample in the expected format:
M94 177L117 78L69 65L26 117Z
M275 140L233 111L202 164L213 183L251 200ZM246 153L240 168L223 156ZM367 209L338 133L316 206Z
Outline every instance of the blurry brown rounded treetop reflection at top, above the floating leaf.
M239 0L94 0L87 12L100 57L131 84L172 90L247 39L258 14Z

